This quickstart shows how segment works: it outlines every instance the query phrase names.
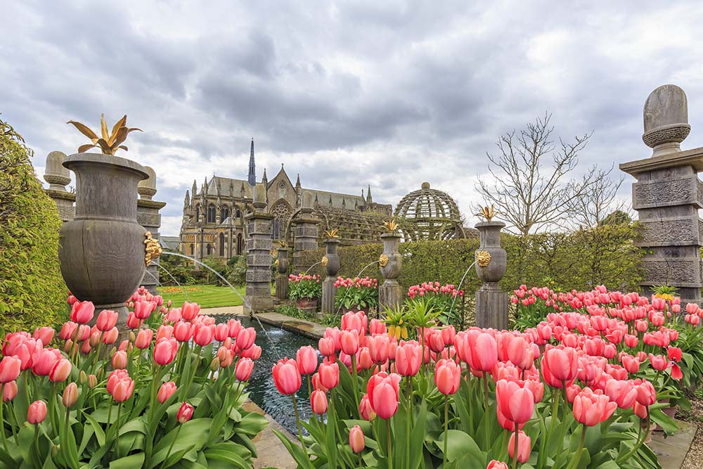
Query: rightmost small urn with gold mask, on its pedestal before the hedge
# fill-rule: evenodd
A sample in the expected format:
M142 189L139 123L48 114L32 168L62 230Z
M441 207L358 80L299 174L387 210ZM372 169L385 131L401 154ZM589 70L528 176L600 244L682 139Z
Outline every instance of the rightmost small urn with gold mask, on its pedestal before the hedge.
M476 326L479 328L508 328L508 293L498 286L508 265L501 248L502 221L483 221L475 225L480 246L476 251L476 272L484 282L476 292Z

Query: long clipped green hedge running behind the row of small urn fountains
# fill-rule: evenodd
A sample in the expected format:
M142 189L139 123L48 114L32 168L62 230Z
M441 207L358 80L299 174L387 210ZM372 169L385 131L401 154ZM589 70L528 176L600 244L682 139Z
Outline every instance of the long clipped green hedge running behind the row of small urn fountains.
M501 281L505 290L521 283L545 285L555 289L592 288L604 284L608 288L633 290L640 280L640 257L643 252L633 245L636 226L628 224L579 229L571 233L539 233L526 237L503 234L503 248L508 252L508 271ZM446 241L401 243L403 268L399 282L405 288L423 281L439 281L458 285L479 248L478 238ZM361 276L382 281L376 261L382 252L380 243L340 248L341 276ZM303 253L302 264L318 262L323 249ZM294 269L295 271L295 269ZM321 266L311 269L323 274ZM462 288L471 295L480 282L474 269Z

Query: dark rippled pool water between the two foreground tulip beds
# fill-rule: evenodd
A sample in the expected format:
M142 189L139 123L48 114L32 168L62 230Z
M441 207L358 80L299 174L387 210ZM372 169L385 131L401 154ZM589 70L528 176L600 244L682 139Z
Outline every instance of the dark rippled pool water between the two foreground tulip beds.
M254 362L254 371L249 380L247 392L250 392L250 399L264 409L274 420L283 425L293 435L297 435L297 425L295 424L295 413L293 411L292 399L278 392L273 384L271 368L284 356L295 359L295 353L303 345L312 345L317 349L317 342L302 335L298 335L288 330L283 330L268 324L264 324L266 333L259 325L259 321L248 316L237 316L235 314L219 314L214 316L217 323L226 323L230 319L239 319L245 328L253 327L257 331L256 344L262 347L262 356ZM274 342L276 348L270 343ZM303 376L302 386L295 395L300 418L307 420L311 416L310 397L307 390L307 376ZM304 431L304 430L303 430Z

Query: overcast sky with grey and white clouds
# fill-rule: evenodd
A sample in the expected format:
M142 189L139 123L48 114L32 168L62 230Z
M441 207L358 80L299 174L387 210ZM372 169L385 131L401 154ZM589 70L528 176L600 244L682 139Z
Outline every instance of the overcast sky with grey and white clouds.
M703 146L703 3L661 1L22 1L2 6L0 113L34 148L123 114L122 156L154 167L162 233L186 188L285 164L303 186L396 204L430 181L467 219L498 136L553 113L593 131L581 167L646 158L642 107L685 89ZM626 181L622 193L630 191Z

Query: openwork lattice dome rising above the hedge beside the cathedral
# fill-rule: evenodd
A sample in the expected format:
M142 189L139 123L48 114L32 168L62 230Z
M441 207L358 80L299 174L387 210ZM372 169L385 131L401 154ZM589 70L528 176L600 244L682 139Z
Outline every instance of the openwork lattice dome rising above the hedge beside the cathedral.
M398 203L394 216L405 241L465 238L459 207L451 195L423 182Z

